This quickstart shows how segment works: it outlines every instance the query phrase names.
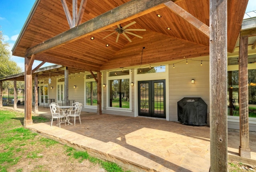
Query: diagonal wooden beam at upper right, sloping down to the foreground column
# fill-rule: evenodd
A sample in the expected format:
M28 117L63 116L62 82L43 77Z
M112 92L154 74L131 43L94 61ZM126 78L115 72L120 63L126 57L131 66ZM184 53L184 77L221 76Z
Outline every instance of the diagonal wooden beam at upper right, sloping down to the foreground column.
M194 16L192 16L189 12L187 12L186 10L184 10L183 8L181 8L180 6L178 6L172 1L166 2L164 3L164 5L170 8L170 10L172 10L172 12L174 12L178 16L184 18L184 20L189 22L194 28L196 28L197 30L202 32L205 36L207 36L207 38L210 37L209 27L203 22L201 22L200 20L198 20L197 18L195 18Z

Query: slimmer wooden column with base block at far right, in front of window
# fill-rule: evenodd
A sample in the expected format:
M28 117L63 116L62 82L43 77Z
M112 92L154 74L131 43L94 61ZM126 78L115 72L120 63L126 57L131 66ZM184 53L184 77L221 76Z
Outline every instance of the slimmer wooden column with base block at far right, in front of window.
M239 119L240 146L239 155L251 158L249 145L249 110L248 110L248 36L240 37L239 48Z

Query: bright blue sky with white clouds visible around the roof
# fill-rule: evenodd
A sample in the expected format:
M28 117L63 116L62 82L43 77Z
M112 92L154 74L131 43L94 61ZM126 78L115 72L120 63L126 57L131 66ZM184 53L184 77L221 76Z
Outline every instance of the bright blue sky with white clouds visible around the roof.
M10 51L35 1L36 0L0 0L0 30L3 32L4 40L10 45ZM256 10L256 0L249 0L246 12L253 10ZM12 60L24 71L24 58L12 56ZM38 64L40 64L40 61L35 61L33 68ZM51 64L44 64L44 66L48 65Z

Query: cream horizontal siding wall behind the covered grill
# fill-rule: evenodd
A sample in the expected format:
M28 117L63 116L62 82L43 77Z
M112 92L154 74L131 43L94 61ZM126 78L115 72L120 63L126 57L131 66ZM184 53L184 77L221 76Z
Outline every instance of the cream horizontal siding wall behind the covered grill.
M201 60L202 66L201 66ZM209 125L210 82L209 57L193 58L193 60L172 61L169 65L169 114L170 121L178 121L177 102L184 97L201 97L207 104L207 124ZM173 66L175 68L173 68ZM191 84L191 80L195 84Z

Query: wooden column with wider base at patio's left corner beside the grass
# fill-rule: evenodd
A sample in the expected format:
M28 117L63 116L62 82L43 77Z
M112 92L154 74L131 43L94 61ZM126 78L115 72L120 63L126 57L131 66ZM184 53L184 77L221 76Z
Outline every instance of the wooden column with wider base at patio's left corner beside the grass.
M32 124L32 65L30 64L31 58L25 57L25 118L24 126Z

